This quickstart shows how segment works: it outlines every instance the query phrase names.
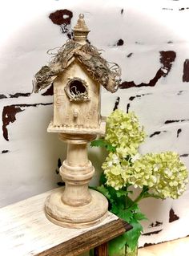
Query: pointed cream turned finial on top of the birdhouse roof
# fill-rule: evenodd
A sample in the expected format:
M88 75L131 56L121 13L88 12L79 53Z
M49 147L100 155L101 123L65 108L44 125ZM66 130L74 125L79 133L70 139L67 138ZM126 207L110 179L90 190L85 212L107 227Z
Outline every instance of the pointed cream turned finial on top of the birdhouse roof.
M74 41L80 44L85 44L87 35L90 32L90 30L86 26L86 22L84 20L83 14L78 15L78 22L74 26L73 31L74 31Z

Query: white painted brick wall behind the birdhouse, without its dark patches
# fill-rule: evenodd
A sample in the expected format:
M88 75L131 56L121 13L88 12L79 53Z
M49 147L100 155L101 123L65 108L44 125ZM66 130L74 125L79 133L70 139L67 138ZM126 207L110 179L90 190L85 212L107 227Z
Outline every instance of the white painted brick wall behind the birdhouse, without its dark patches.
M119 63L123 70L123 81L136 84L148 83L161 67L159 51L175 51L176 59L170 73L159 79L155 87L131 87L111 94L102 90L102 114L107 116L120 96L119 107L127 109L129 98L143 95L131 101L134 110L145 126L147 134L162 132L159 136L148 138L141 152L161 152L175 150L180 155L189 153L188 121L164 124L166 120L189 120L188 83L182 82L183 62L189 59L189 7L187 0L109 0L109 1L65 1L65 0L18 0L1 2L0 8L0 74L1 94L9 96L16 92L30 92L33 75L50 56L46 51L66 42L59 26L54 25L48 15L54 10L73 11L71 25L77 21L78 14L85 14L90 27L91 43L103 49L105 59ZM170 8L173 10L163 10ZM180 8L185 10L179 11ZM120 12L123 9L123 14ZM119 39L124 45L117 47ZM173 43L167 43L171 41ZM138 43L136 43L138 42ZM133 53L130 58L127 55ZM182 92L181 92L182 91ZM52 102L51 96L30 95L18 99L0 100L0 110L11 104L40 104ZM55 173L58 157L66 157L66 147L56 135L47 134L52 105L37 108L23 108L16 115L16 121L7 128L10 141L0 136L1 180L0 202L8 205L31 195L41 193L56 186L61 178ZM2 126L2 120L1 126ZM177 130L182 132L177 137ZM90 148L90 160L97 172L92 181L97 183L104 152ZM189 157L182 157L189 168ZM153 236L143 236L144 242L162 242L189 234L188 214L189 195L187 192L179 200L147 200L141 205L149 221L144 223L145 232L161 230ZM169 223L169 210L173 207L180 217L179 221ZM149 224L163 221L163 226L149 228Z

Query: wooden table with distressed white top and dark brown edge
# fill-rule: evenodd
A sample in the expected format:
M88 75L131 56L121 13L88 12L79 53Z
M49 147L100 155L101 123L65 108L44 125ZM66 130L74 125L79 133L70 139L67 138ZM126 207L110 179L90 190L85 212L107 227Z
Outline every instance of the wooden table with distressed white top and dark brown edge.
M0 242L3 256L74 256L91 248L107 256L107 241L131 226L112 213L100 224L85 229L56 226L46 219L43 205L52 191L0 209Z

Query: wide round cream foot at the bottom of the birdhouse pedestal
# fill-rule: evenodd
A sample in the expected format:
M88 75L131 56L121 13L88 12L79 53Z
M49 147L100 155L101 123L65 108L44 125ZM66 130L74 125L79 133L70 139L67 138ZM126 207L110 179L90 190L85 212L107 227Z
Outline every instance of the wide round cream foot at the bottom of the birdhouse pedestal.
M63 188L46 198L46 217L58 226L84 228L94 226L107 216L107 198L90 189L92 200L87 205L70 206L62 201Z

